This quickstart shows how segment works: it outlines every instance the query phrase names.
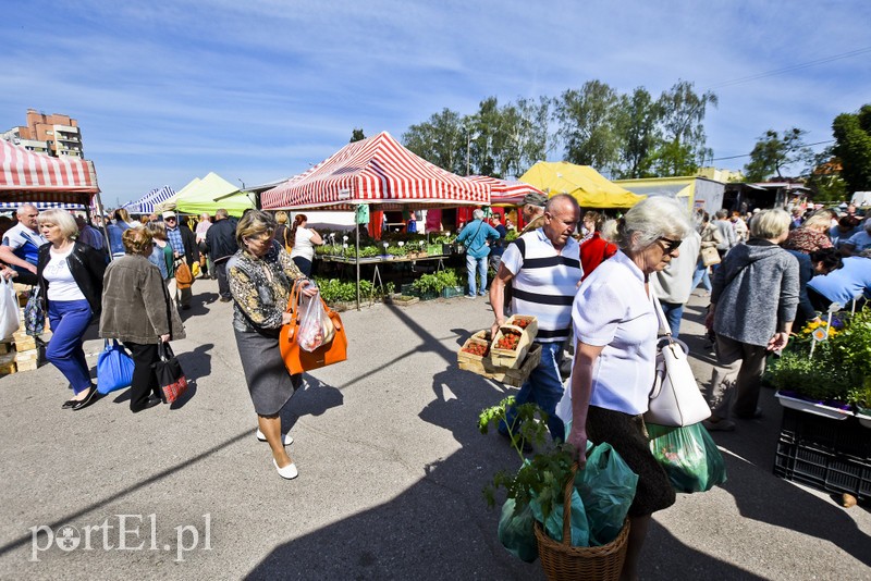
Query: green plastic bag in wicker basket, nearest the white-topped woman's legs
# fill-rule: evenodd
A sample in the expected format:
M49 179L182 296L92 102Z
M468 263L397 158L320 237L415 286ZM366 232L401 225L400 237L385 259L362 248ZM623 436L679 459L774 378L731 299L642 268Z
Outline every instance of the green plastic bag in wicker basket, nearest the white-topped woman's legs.
M611 444L599 444L588 453L587 467L575 475L575 490L589 523L588 546L605 545L617 537L637 485L638 474Z

